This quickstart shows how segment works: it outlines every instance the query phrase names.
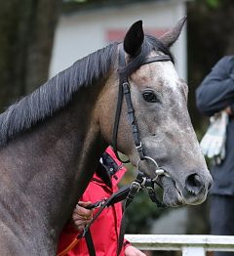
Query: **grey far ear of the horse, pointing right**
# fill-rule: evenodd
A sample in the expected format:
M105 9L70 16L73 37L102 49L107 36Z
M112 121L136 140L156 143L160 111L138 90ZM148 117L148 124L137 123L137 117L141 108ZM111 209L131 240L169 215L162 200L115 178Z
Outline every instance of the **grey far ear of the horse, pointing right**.
M182 18L181 20L179 20L177 23L176 23L176 26L173 27L172 29L170 29L168 32L166 32L165 34L163 34L161 37L159 37L158 39L167 47L170 47L172 46L180 32L181 32L181 29L185 23L185 21L187 20L187 17L185 16L184 18Z

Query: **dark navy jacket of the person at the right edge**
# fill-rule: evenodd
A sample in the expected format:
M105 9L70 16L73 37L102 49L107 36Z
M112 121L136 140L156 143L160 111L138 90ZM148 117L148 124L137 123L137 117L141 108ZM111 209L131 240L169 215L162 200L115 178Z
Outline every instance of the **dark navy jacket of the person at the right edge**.
M208 115L226 107L234 112L234 56L222 58L215 64L211 73L197 88L198 109ZM227 125L226 156L221 164L212 168L214 186L212 193L234 195L234 118Z

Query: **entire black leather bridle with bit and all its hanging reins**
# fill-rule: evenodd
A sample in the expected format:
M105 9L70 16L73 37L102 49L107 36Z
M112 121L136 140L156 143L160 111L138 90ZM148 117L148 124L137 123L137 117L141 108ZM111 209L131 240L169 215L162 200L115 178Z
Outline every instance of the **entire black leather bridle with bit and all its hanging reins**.
M162 56L154 56L154 57L147 58L143 64L151 64L155 62L168 62L168 61L172 61L170 56L162 55ZM123 45L121 45L120 52L119 52L119 69L124 68L125 66L126 66L125 51L123 50ZM165 207L165 204L163 204L157 198L154 185L158 179L158 176L160 175L168 176L168 174L165 172L165 170L159 168L157 162L152 157L144 154L142 143L140 141L138 127L137 127L135 109L133 107L133 103L131 99L130 88L131 86L129 83L128 76L121 73L119 70L119 94L117 99L117 107L116 107L115 120L114 120L114 126L113 126L112 145L117 158L121 162L123 163L130 162L130 160L127 160L127 161L121 160L117 151L117 136L118 136L119 121L120 121L120 115L121 115L121 110L123 105L123 98L125 98L127 109L128 109L128 120L132 128L135 147L139 155L139 160L137 161L137 172L138 172L137 179L134 182L132 182L131 185L123 187L118 192L114 192L108 199L100 200L96 203L93 203L87 206L86 207L87 209L99 208L97 214L94 216L91 222L84 228L83 233L77 235L76 238L71 242L71 244L69 244L69 246L65 250L60 252L57 256L66 255L66 253L69 250L71 250L79 242L79 240L82 237L86 238L90 255L96 256L92 235L90 233L91 225L97 220L98 216L100 215L100 213L105 207L108 207L110 205L113 205L116 202L126 199L124 208L123 208L123 217L121 220L120 234L118 239L118 248L117 248L117 256L118 256L122 250L122 245L124 241L124 234L125 234L125 222L124 222L125 218L124 217L125 217L126 209L130 205L130 203L134 200L134 197L137 194L137 192L141 190L144 190L144 189L147 190L150 199L152 200L152 202L156 203L157 207ZM146 174L139 171L140 161L145 161L145 160L151 161L155 165L156 176L153 179L150 179Z

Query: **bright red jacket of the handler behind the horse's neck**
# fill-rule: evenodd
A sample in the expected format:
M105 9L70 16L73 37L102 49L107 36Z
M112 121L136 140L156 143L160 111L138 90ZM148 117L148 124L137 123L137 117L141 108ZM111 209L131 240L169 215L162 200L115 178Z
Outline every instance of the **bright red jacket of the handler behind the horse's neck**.
M112 158L119 166L121 165L121 162L118 161L111 148L106 149L106 152L110 156L112 156ZM116 192L118 190L117 184L119 183L125 172L126 168L122 167L115 175L112 176L111 189L107 187L95 174L80 200L96 202L100 199L109 197L113 192ZM96 211L98 211L98 209ZM95 223L91 226L90 230L93 237L97 256L116 255L121 219L122 204L121 202L119 202L108 208L105 208L98 216L98 219L95 221ZM74 228L74 226L68 224L63 229L59 237L58 253L64 250L72 242L76 235L78 235L78 231ZM78 242L78 244L68 252L67 255L89 256L85 238L83 237ZM122 250L121 255L124 255L124 249Z

